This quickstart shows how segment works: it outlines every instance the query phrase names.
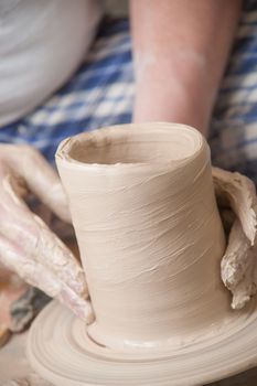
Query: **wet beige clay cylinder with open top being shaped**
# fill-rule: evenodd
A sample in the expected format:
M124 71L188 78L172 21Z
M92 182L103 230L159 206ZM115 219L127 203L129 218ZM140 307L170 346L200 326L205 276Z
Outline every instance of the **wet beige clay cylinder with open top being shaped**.
M56 162L95 312L94 341L182 344L222 319L225 238L199 131L116 126L64 140Z

